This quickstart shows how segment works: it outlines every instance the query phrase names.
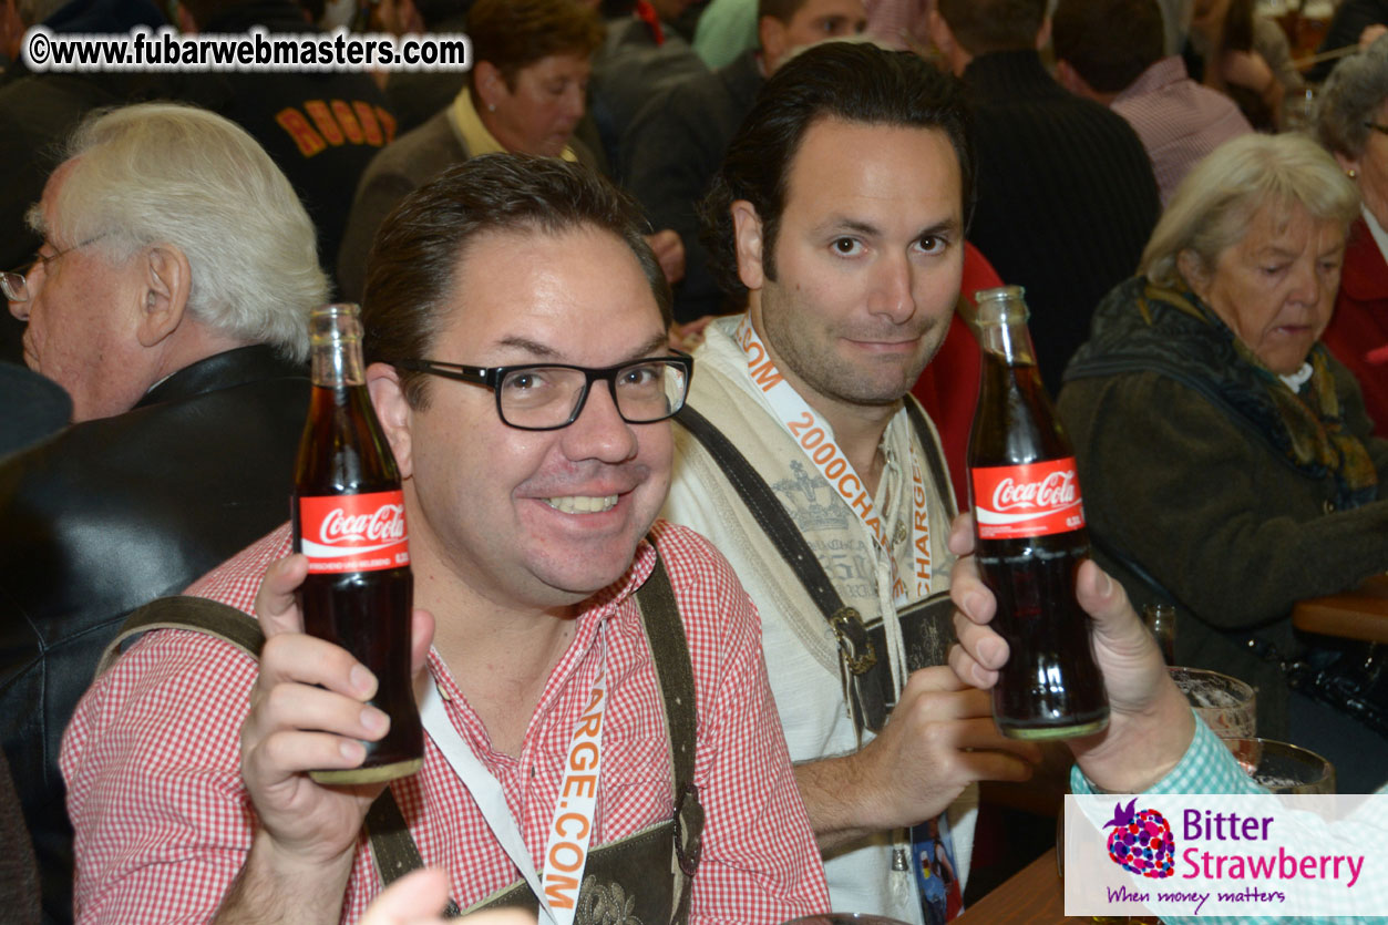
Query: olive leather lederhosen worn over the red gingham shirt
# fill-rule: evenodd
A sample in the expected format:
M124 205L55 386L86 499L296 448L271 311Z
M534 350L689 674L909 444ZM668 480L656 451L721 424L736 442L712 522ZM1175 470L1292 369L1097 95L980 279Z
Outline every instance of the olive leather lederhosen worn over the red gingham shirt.
M694 785L694 669L675 592L659 558L636 593L636 603L665 703L675 785L670 818L590 851L579 892L576 925L684 922L702 849L704 807ZM203 632L255 658L260 658L265 643L260 625L235 607L204 597L161 597L130 614L101 656L97 675L119 656L125 640L150 629ZM390 788L382 792L366 814L366 833L382 883L389 885L423 865ZM500 907L536 911L539 900L529 885L518 879L465 910L450 900L447 914L454 917Z

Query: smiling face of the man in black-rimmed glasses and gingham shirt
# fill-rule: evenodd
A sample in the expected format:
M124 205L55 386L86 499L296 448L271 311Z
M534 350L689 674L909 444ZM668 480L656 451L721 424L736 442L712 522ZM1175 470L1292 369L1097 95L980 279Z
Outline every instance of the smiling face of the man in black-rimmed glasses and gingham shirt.
M608 232L483 235L448 300L429 358L608 367L668 354L650 282ZM665 501L669 421L626 424L601 383L559 431L507 426L483 386L433 378L426 394L408 435L391 435L415 501L416 569L437 565L491 601L541 608L622 576Z

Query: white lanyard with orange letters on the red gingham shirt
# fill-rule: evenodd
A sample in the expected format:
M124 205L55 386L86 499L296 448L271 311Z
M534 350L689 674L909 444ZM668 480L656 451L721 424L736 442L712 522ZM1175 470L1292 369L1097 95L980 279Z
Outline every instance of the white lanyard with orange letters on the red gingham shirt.
M554 819L544 847L544 874L534 869L501 783L483 767L448 719L439 685L426 685L419 707L429 738L468 788L482 818L540 900L541 925L572 925L589 860L589 842L597 818L598 778L602 758L602 717L607 711L607 646L602 665L587 693L583 714L573 724L564 760L564 782L554 807ZM541 885L543 881L543 885Z

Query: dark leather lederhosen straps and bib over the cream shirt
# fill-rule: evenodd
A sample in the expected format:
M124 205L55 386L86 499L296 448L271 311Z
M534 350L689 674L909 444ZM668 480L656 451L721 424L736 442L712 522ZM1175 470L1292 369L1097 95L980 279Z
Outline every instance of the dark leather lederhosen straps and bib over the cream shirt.
M944 461L936 450L936 440L924 415L909 397L906 414L916 439L926 451L930 475L940 489L940 496L945 499L947 512L952 519L956 511L949 503ZM847 682L848 710L854 726L859 735L865 728L880 732L887 722L887 714L897 704L891 671L877 656L887 651L887 628L881 618L865 622L855 608L844 604L819 557L805 542L805 536L795 526L786 506L776 497L776 492L712 421L690 404L686 404L675 419L713 457L723 476L823 614L838 642L840 671ZM952 614L949 592L937 592L897 614L908 671L945 662L949 644L954 642Z

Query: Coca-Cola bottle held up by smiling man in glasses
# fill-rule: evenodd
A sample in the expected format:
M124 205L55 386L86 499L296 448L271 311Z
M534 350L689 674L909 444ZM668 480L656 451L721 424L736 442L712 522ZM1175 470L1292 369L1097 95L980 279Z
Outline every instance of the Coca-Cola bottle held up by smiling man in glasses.
M304 631L336 643L376 675L371 704L390 731L365 742L347 771L314 771L321 783L373 783L414 774L423 729L409 678L414 575L396 457L366 393L357 306L310 317L314 392L294 468L294 551L308 556L297 592Z

